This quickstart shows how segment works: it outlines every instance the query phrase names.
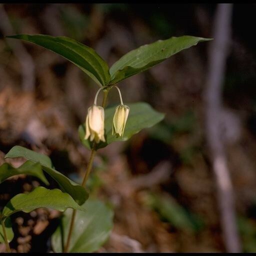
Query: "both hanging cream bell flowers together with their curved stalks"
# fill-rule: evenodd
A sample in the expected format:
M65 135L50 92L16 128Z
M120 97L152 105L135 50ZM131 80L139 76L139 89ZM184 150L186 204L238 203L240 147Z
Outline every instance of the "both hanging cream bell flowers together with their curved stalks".
M118 89L118 87L116 87ZM99 92L99 91L98 91ZM112 135L115 134L116 137L123 136L125 124L129 114L129 107L123 105L120 90L118 89L120 95L121 104L115 108L115 113L112 122ZM98 143L100 140L105 142L104 137L104 108L102 106L96 105L97 94L95 96L94 104L88 108L88 113L85 120L85 139L94 140Z

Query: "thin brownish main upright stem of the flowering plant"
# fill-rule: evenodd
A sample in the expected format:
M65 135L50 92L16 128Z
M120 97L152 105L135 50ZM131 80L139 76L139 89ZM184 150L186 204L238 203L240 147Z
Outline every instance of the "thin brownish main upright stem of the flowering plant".
M104 95L103 95L103 100L102 100L102 107L105 107L105 105L106 105L108 90L109 90L109 88L103 89ZM95 154L96 154L96 143L94 142L92 145L91 151L90 151L89 162L88 162L87 168L85 170L85 173L84 173L84 176L82 179L82 183L81 183L82 186L85 186L86 181L89 177L90 171L92 169L92 163L93 163ZM69 226L69 231L68 231L68 235L67 235L67 240L66 240L66 244L64 246L63 252L67 252L68 248L69 248L71 234L72 234L73 225L74 225L75 214L76 214L76 210L73 209L72 216L71 216L71 222L70 222L70 226Z

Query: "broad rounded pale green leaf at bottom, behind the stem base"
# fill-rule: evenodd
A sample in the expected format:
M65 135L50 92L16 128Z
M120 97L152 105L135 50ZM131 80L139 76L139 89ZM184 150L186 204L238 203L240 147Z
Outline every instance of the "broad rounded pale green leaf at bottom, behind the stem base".
M102 246L113 227L113 211L103 202L89 198L83 205L86 212L77 211L68 252L92 252ZM55 252L63 251L67 239L71 210L66 210L60 225L51 236Z

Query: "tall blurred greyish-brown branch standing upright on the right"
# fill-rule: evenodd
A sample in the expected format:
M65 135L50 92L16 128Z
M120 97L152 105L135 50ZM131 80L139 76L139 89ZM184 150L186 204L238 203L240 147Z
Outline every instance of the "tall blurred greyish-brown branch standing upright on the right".
M224 80L226 57L229 53L231 16L232 4L220 3L217 5L213 23L214 39L208 52L209 69L204 100L206 107L206 138L215 174L224 243L228 252L240 252L241 247L235 221L233 188L220 128L221 86Z

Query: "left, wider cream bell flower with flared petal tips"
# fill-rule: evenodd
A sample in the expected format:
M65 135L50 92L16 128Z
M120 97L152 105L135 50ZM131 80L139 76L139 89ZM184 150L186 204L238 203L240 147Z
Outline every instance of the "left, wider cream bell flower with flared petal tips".
M88 108L88 113L85 120L85 139L90 137L90 141L93 139L96 143L100 140L105 142L104 138L104 108L93 104Z

